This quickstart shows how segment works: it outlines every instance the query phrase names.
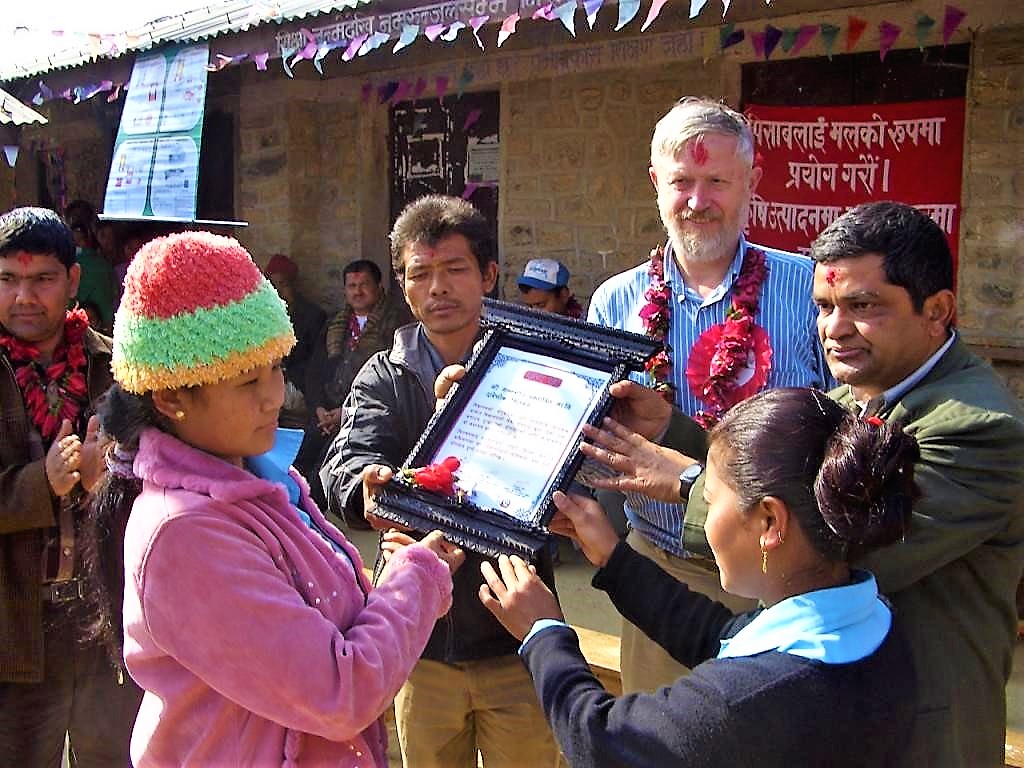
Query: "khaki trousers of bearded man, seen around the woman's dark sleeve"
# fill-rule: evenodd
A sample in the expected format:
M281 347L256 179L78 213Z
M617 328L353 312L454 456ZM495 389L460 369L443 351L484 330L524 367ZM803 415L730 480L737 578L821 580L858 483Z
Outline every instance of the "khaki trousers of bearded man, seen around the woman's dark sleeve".
M706 558L673 555L651 544L637 530L630 531L626 543L644 557L656 562L662 570L671 573L694 592L724 603L733 612L740 613L757 607L756 600L736 597L723 590L718 569L712 570L714 564ZM680 628L680 632L682 631L684 629ZM623 620L618 664L624 693L652 693L664 685L672 685L690 671L626 620Z

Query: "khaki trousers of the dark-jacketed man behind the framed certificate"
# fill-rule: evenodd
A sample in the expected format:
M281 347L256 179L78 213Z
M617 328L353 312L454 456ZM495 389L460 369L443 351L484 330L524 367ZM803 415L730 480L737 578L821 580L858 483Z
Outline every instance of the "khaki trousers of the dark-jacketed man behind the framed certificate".
M394 701L404 768L554 768L558 746L518 655L421 658Z

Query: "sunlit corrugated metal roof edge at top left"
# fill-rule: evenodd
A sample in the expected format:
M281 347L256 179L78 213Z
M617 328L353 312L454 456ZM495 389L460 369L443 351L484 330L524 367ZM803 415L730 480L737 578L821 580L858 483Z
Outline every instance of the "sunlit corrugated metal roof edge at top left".
M40 75L53 70L95 61L99 58L117 58L156 45L178 42L196 42L230 32L242 32L261 24L292 22L296 18L369 5L373 0L343 0L342 2L316 2L315 0L279 0L278 2L252 2L252 0L223 0L212 2L195 10L178 13L120 34L82 35L72 46L60 51L43 51L34 58L7 65L0 71L0 80L14 80ZM72 36L68 36L72 37Z

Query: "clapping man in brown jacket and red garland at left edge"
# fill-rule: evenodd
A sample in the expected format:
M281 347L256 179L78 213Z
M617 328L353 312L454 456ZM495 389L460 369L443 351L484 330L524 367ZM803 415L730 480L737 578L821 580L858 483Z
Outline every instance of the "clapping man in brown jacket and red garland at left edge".
M0 216L0 755L4 765L128 763L141 691L97 643L76 546L104 471L89 416L110 386L110 339L68 311L81 269L53 212ZM88 425L88 426L87 426Z

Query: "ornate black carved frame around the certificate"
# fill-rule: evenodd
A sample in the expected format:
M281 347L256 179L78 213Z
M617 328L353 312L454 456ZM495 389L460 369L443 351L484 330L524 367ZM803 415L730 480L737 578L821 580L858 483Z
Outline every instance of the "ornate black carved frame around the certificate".
M453 387L442 408L430 419L403 467L423 467L443 458L438 456L438 451L451 444L449 436L453 430L458 429L462 434L468 428L466 422L461 420L476 418L483 408L477 398L481 384L493 380L488 376L494 377L495 369L506 365L510 358L514 364L527 367L539 359L542 367L545 364L555 369L561 366L567 376L582 380L590 401L579 418L597 425L611 408L608 387L630 373L643 370L644 364L663 348L659 342L646 336L494 299L484 299L481 326L483 334L467 365L465 377ZM597 375L588 372L596 372ZM528 379L532 373L530 371L523 378ZM559 383L553 386L560 386L561 381L555 381ZM510 390L505 388L504 391ZM562 397L570 394L566 390ZM505 398L500 399L504 403ZM522 406L521 402L519 404ZM535 423L535 431L536 426ZM540 474L544 475L544 480L540 493L513 494L520 507L525 505L525 509L519 509L518 514L506 513L498 506L479 506L474 502L478 495L475 490L472 496L457 500L412 485L400 479L400 473L378 496L375 514L415 530L426 532L439 529L449 541L490 557L518 554L532 558L549 536L545 526L555 512L551 495L569 486L583 462L584 455L580 452L582 439L580 424L567 442L560 444L556 440L548 445L553 445L563 460L558 466L542 469ZM480 437L476 447L480 453L489 450L492 461L495 461L497 447L487 443L485 437ZM517 479L512 476L509 482L517 482ZM530 477L530 480L536 490L537 477ZM487 493L487 489L480 489L480 495L486 496Z

